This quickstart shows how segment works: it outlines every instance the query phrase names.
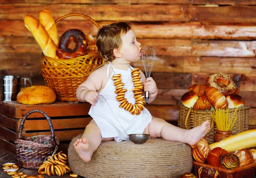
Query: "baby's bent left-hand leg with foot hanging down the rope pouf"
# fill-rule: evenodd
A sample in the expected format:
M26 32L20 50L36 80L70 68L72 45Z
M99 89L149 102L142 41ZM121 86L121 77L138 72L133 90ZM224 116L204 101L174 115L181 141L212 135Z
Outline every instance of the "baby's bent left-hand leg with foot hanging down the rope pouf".
M101 142L108 140L113 140L113 138L102 138L99 127L92 120L86 126L81 138L74 142L74 146L80 158L85 162L89 162L93 152L99 147Z

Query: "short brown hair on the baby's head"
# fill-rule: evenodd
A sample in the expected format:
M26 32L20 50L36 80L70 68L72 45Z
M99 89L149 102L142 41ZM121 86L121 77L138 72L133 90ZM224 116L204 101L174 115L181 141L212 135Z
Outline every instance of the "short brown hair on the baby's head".
M97 34L96 46L99 54L106 60L112 62L115 59L113 50L122 46L122 35L131 30L131 23L118 22L103 26Z

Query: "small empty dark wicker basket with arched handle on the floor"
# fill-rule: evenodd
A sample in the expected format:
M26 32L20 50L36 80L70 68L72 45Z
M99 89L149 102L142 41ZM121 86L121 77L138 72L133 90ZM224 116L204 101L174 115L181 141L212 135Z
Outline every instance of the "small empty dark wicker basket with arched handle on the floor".
M22 136L24 122L30 114L35 112L41 113L47 119L51 135L36 135L24 138ZM45 158L52 155L59 143L59 139L55 137L52 121L49 116L42 110L33 109L27 112L20 122L19 137L15 141L17 164L26 169L38 169L43 164Z

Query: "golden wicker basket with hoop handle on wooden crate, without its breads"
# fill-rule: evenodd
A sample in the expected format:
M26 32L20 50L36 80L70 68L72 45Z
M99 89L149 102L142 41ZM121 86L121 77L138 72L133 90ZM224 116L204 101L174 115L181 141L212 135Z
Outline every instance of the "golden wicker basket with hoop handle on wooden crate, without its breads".
M67 14L57 20L58 21L70 17L81 16L92 21L98 29L100 26L91 17L84 14ZM84 55L71 59L55 59L42 55L41 74L44 82L52 88L58 95L60 101L78 101L76 98L76 89L83 83L96 67L103 62L99 54Z

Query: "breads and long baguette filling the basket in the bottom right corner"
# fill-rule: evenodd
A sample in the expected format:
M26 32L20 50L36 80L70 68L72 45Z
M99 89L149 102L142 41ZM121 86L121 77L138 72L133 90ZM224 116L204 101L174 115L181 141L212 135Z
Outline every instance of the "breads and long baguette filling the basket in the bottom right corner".
M255 169L255 137L256 129L241 132L210 145L202 138L196 145L191 146L192 156L195 161L205 165L211 165L215 168L218 167L229 170L239 167L239 170L242 170L240 167L250 165ZM208 150L206 148L209 148L209 151L206 151Z

